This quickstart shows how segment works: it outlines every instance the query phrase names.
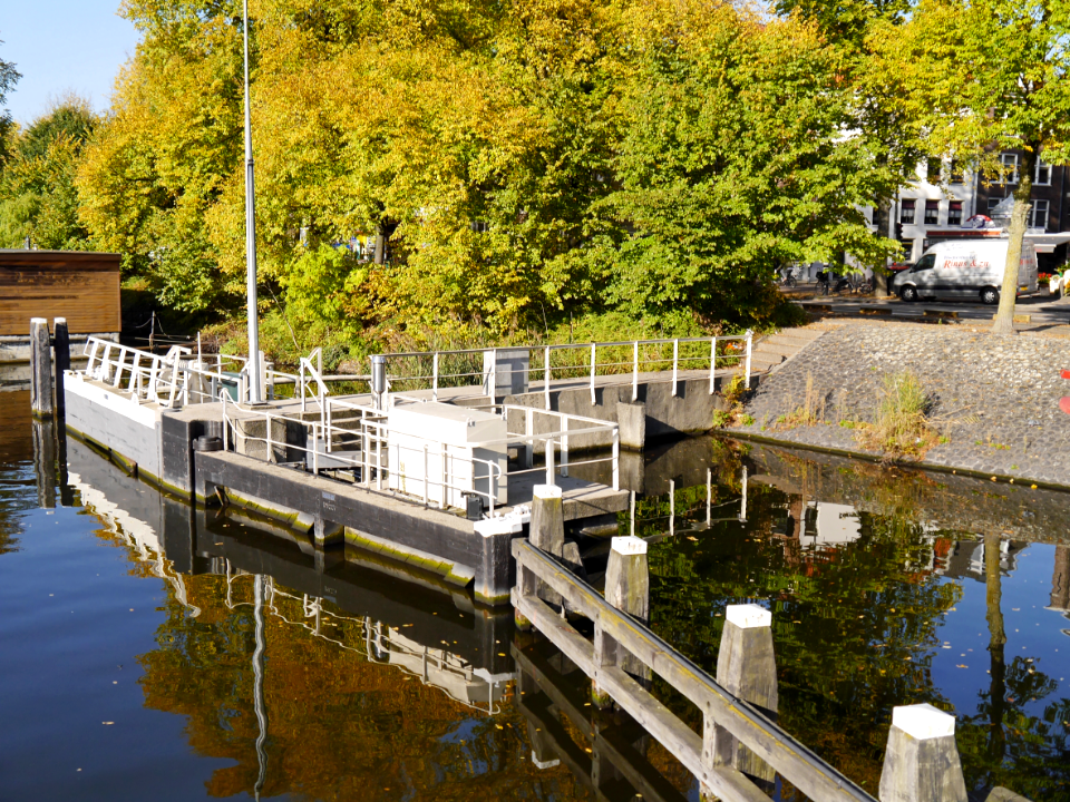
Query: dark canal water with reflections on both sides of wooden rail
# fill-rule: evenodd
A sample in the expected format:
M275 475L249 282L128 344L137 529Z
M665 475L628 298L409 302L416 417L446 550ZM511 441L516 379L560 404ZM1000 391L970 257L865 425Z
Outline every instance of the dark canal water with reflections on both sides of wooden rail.
M25 392L0 421L0 800L698 799L649 737L656 775L600 752L628 722L510 610L191 510ZM726 606L769 607L780 724L853 780L875 794L892 708L928 702L972 791L1070 799L1070 495L711 438L624 472L652 627L713 673Z

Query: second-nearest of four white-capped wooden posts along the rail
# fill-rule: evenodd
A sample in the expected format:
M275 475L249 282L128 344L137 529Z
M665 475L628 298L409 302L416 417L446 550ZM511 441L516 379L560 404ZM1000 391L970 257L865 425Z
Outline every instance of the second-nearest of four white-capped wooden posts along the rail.
M717 682L749 702L763 715L777 720L777 658L772 648L772 615L759 605L729 605L717 654ZM772 782L776 772L739 743L709 713L702 727L702 760L713 767L731 765L756 780ZM702 798L709 798L703 789Z

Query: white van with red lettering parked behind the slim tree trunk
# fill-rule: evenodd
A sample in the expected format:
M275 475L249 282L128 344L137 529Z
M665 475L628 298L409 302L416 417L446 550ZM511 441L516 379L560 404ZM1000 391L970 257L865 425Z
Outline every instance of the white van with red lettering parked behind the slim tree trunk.
M908 271L892 282L892 291L904 301L918 299L969 299L986 304L1000 302L1006 239L960 239L928 248ZM1037 250L1022 243L1018 271L1018 294L1037 292Z

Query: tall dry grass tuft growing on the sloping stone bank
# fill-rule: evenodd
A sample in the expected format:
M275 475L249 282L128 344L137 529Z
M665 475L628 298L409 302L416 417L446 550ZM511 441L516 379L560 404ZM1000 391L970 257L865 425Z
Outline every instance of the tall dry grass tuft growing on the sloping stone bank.
M928 420L932 402L911 371L884 378L876 419L859 427L855 440L863 448L884 453L885 461L921 459L938 440Z

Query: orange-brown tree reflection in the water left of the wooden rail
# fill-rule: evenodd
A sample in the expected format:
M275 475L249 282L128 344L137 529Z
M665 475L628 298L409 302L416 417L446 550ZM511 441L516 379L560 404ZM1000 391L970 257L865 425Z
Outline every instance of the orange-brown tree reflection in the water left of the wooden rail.
M253 578L233 584L234 609L224 577L186 577L186 585L203 612L193 618L168 595L158 647L139 657L145 704L188 716L185 735L197 754L234 762L212 773L210 795L252 795L264 762L256 753ZM300 597L280 604L293 607L280 609L291 622L304 618ZM494 718L474 716L441 691L369 662L362 620L333 609L322 620L330 640L265 609L262 799L574 796L566 770L541 772L527 760L513 705Z

